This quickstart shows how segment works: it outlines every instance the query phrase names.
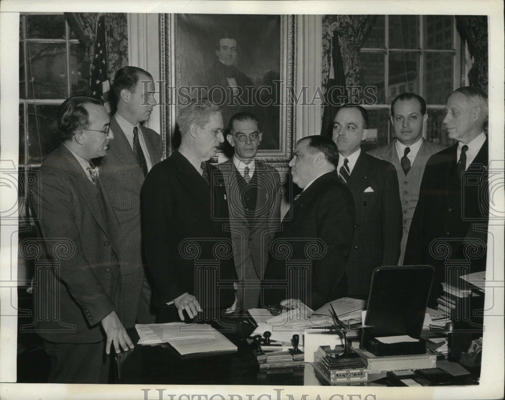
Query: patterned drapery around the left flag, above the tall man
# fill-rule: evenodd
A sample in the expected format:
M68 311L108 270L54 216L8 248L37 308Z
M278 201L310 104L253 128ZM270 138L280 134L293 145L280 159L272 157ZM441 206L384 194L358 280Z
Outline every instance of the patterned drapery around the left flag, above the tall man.
M94 57L95 29L99 16L105 16L107 65L112 82L116 71L128 65L128 24L126 13L65 13L71 29L87 47L89 60Z

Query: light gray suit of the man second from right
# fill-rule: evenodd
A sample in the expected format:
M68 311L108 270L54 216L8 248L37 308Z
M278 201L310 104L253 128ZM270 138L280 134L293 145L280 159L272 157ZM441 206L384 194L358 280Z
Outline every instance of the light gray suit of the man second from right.
M368 154L393 164L396 169L396 175L398 176L401 208L403 210L403 234L401 236L398 265L403 264L403 256L405 255L410 225L419 199L419 188L421 187L421 180L423 179L424 167L432 154L438 153L440 150L444 149L443 146L428 142L424 138L421 138L421 140L421 147L419 148L419 152L407 176L405 176L401 168L398 152L396 151L396 140L385 146L368 151Z

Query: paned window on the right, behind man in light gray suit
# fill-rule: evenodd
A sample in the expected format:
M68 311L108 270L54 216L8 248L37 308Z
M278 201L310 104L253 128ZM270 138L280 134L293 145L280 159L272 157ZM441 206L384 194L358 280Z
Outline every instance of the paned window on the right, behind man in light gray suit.
M377 103L365 103L371 131L367 149L394 138L389 106L406 88L428 104L426 138L450 144L442 120L445 102L460 82L459 45L453 16L376 16L360 51L360 84L377 91Z

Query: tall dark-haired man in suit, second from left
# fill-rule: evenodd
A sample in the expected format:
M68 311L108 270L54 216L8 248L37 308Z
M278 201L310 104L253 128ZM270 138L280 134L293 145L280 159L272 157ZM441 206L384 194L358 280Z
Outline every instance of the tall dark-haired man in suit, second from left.
M119 261L123 291L122 320L127 328L153 323L151 290L144 271L140 230L140 188L151 167L161 160L161 137L141 125L156 105L151 75L138 67L123 67L114 78L117 110L111 119L114 143L100 165L100 182L107 190L121 226Z

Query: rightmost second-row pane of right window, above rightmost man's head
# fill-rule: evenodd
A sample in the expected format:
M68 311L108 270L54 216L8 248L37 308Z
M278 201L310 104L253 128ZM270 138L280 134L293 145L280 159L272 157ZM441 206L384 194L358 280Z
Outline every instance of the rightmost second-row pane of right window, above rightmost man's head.
M424 99L427 104L445 104L452 93L454 56L424 53Z

